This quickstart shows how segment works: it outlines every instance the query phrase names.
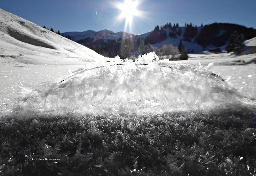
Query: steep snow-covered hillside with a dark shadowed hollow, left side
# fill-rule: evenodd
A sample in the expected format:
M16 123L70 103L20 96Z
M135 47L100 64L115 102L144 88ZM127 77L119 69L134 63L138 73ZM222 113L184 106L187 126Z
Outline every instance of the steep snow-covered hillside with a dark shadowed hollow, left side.
M77 64L104 56L0 9L0 64Z

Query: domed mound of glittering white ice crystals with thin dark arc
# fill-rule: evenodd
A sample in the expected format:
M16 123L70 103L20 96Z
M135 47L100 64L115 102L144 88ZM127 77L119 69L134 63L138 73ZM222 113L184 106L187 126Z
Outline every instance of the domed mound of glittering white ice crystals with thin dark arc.
M13 113L144 116L232 108L240 99L236 89L213 76L208 67L170 67L155 53L140 55L136 62L104 63L59 83L24 88Z

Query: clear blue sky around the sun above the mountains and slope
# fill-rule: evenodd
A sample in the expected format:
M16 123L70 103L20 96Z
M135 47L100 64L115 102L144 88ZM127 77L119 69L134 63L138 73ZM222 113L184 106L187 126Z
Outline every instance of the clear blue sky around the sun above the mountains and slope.
M256 0L132 0L137 11L125 29L124 0L0 0L0 8L60 32L125 31L141 34L171 22L184 26L235 23L256 29ZM129 6L126 6L129 7ZM126 8L125 10L129 10ZM139 15L138 15L139 14Z

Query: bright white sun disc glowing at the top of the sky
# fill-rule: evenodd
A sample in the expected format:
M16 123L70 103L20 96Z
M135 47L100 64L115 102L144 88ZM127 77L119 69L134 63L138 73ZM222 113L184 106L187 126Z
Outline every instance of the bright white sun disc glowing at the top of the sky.
M126 21L130 22L133 16L136 16L138 11L136 10L136 6L138 4L136 2L132 2L132 0L125 0L124 4L119 5L119 9L122 11L121 16L126 19Z

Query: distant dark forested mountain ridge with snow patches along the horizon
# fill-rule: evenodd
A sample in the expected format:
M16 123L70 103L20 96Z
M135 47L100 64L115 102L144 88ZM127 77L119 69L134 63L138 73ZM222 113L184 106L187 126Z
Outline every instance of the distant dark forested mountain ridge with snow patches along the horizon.
M165 39L159 40L156 42L150 42L148 38L150 35L156 30L158 27L158 32L163 33L165 35ZM239 33L243 33L245 39L251 39L256 37L256 30L253 28L247 28L242 25L236 24L229 24L229 23L213 23L209 25L204 25L201 27L187 25L179 27L178 25L164 25L156 26L154 31L147 32L144 34L127 34L126 32L117 32L114 33L109 30L102 30L99 32L94 32L91 35L87 35L83 37L81 35L76 35L76 33L67 33L64 32L63 34L69 34L70 38L84 46L94 49L95 51L99 51L97 47L108 47L113 49L114 46L109 46L112 44L115 47L120 47L116 43L120 43L123 38L132 38L133 43L135 43L135 47L138 47L140 43L139 40L144 39L145 44L150 43L152 46L157 47L158 49L162 45L172 44L173 46L178 46L180 41L182 41L183 45L188 49L188 52L191 53L198 53L208 50L210 48L221 47L222 50L225 50L225 45L227 41L234 31L238 31ZM90 30L88 30L90 31ZM107 32L106 32L107 31ZM155 37L156 38L156 37ZM111 42L111 40L115 40ZM136 46L137 45L137 46ZM134 51L137 49L135 48ZM106 49L105 49L106 52ZM117 51L115 50L115 53Z

